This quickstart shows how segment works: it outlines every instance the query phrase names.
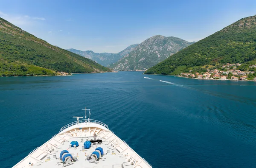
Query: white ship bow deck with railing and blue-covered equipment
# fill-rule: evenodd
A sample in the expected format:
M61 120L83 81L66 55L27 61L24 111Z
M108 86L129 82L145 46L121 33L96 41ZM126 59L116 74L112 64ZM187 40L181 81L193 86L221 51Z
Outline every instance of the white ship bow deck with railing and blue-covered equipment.
M86 140L102 140L101 144L93 145L82 151ZM77 148L70 148L70 142L77 141ZM96 147L103 148L104 156L93 163L87 160L87 155L95 151ZM63 164L60 152L68 150L72 156L77 157L71 164ZM56 157L55 157L56 156ZM151 165L140 157L127 143L122 141L108 126L96 120L79 120L61 128L60 132L42 146L30 152L27 157L17 163L13 168L151 168Z

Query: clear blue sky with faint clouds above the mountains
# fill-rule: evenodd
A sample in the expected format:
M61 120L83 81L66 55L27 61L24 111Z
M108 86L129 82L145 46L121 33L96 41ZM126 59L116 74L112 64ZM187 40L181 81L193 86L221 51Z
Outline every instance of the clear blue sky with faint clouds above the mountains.
M61 48L117 53L154 35L189 42L256 14L256 0L0 0L0 17Z

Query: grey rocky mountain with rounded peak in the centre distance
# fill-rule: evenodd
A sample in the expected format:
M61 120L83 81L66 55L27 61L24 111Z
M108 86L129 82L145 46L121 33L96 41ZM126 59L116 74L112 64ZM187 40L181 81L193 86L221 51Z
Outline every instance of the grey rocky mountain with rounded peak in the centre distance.
M111 64L115 70L143 70L165 60L194 42L177 37L153 36L140 43L133 51Z

